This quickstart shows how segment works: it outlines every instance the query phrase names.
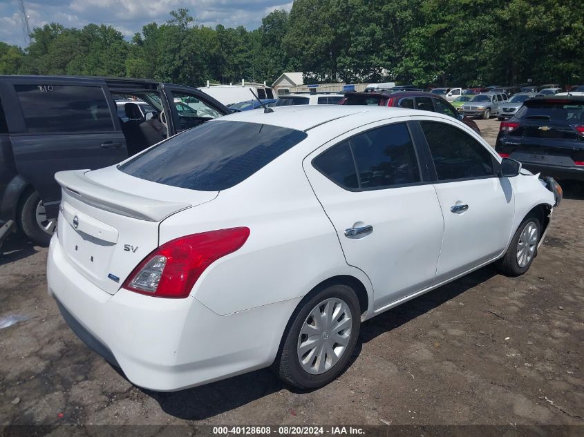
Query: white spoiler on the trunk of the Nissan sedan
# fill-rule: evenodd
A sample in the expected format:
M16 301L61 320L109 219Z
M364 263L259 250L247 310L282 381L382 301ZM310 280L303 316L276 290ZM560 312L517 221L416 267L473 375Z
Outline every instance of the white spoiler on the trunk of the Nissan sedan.
M96 208L148 222L160 222L165 217L192 206L189 203L166 202L125 193L89 179L89 170L59 171L55 179L64 193Z

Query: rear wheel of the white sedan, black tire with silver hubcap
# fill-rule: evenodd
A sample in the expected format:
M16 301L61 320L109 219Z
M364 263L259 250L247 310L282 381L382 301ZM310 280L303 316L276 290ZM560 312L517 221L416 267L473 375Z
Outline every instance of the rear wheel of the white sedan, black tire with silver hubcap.
M332 320L333 326L336 322L336 326L342 328L337 331L337 335L334 331L329 331L328 319L324 320L326 325L321 329L317 325L317 319L312 318L315 313L324 313L326 318L327 312L337 313ZM343 323L346 318L350 320ZM281 380L306 390L322 387L337 378L350 360L359 337L361 311L355 291L340 284L326 287L303 302L292 314L290 322L272 366ZM347 333L349 328L350 331ZM306 331L314 332L311 335L314 342L308 342L310 337L305 334ZM341 343L346 341L346 345L343 346L335 340ZM314 347L311 347L312 344ZM319 351L323 353L319 354ZM304 365L301 362L301 353L305 356Z

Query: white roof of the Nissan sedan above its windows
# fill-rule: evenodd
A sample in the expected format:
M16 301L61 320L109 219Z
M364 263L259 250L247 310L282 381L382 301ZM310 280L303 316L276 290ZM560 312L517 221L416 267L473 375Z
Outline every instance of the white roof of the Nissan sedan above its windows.
M275 106L271 109L273 110L271 113L264 113L261 109L233 113L213 119L209 123L231 120L306 131L341 118L343 118L343 123L348 125L351 120L357 123L357 119L362 120L362 117L366 117L368 122L376 122L410 115L442 115L423 110L365 105L297 105ZM446 115L444 118L452 119ZM359 122L355 127L361 124Z

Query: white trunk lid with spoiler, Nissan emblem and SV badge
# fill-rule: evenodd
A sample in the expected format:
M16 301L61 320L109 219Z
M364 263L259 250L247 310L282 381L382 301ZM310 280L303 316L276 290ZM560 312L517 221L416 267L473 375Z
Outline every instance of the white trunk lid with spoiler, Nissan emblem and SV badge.
M55 179L62 187L59 244L79 273L110 294L158 247L162 220L218 194L149 182L115 167L59 172Z

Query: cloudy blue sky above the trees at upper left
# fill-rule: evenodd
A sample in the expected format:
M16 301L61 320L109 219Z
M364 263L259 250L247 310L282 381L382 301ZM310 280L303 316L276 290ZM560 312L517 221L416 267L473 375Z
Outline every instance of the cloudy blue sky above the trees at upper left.
M142 26L164 23L169 12L187 8L196 23L205 26L257 28L261 19L276 9L290 10L285 0L24 0L30 30L46 23L82 28L88 23L108 24L126 39ZM0 41L26 46L19 2L0 0Z

